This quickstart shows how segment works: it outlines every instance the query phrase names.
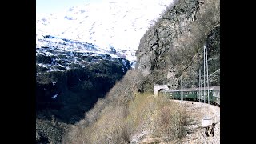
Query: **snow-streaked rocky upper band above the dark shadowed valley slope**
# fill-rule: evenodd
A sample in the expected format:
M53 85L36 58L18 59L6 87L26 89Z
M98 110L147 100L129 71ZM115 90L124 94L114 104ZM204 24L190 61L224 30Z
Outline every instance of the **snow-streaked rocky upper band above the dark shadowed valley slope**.
M51 35L38 36L36 48L37 71L50 72L83 68L91 62L102 60L118 62L122 71L134 67L134 62L122 58L112 47L110 50L102 49L88 42L73 41Z

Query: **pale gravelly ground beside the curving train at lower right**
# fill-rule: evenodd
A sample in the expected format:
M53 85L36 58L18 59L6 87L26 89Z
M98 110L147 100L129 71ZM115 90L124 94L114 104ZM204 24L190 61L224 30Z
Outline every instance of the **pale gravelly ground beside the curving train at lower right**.
M182 138L181 143L220 143L220 107L200 102L183 101L181 103L186 105L187 113L190 114L191 117L186 126L186 137ZM209 130L209 137L206 137L206 128L202 128L202 118L206 115L210 116L211 122L216 123L214 127L214 136L210 134Z

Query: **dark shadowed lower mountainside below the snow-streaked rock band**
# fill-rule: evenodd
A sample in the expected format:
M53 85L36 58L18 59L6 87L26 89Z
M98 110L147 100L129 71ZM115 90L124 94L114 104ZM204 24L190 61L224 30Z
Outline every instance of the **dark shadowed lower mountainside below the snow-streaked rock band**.
M74 124L93 108L126 73L97 74L83 70L55 72L38 77L36 83L37 118ZM44 81L44 82L42 82Z

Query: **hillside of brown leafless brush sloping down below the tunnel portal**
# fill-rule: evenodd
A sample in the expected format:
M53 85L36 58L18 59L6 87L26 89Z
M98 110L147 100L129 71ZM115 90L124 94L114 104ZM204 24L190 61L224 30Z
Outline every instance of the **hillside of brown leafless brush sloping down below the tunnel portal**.
M136 70L128 71L85 119L72 126L63 142L129 143L134 134L146 129L153 130L155 136L182 137L185 109L150 93L138 93L136 75Z

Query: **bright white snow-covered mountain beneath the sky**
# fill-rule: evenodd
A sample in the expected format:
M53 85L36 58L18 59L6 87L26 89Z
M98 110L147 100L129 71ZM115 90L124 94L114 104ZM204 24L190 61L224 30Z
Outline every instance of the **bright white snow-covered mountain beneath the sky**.
M103 0L70 7L62 14L37 14L37 52L52 46L67 51L88 51L84 46L87 43L96 47L94 53L112 54L134 62L142 35L171 2Z

